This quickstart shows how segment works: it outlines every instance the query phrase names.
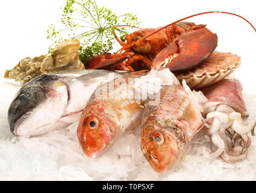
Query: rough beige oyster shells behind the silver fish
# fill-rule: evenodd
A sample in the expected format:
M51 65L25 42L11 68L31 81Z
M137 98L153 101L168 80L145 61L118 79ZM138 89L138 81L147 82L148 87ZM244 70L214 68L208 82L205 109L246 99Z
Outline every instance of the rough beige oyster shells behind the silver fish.
M82 69L84 64L79 60L79 47L79 40L62 42L53 49L51 55L22 59L15 68L5 70L4 78L15 79L22 86L32 78L48 72Z

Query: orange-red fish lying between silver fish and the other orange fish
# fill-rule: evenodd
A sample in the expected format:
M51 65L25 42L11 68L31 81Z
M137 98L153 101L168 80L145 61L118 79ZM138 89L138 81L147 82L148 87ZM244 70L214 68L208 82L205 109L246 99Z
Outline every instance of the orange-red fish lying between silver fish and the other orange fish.
M77 127L77 137L84 153L91 158L99 157L126 131L133 129L140 124L142 117L142 106L136 103L133 98L127 98L116 90L133 90L133 84L128 84L130 78L139 78L146 75L145 72L134 72L122 77L128 87L114 84L110 81L102 86L114 85L113 89L108 89L105 98L97 98L95 93L91 95L82 112L79 125ZM115 93L115 97L110 97L110 92ZM109 95L110 94L110 95ZM141 101L141 104L143 101Z

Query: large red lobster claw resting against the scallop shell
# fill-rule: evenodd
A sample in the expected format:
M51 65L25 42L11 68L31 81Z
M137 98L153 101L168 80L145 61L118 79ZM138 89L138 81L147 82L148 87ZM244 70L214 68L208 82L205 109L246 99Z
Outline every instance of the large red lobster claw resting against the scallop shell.
M217 47L218 37L205 26L195 25L169 43L155 57L152 68L185 71L207 59Z

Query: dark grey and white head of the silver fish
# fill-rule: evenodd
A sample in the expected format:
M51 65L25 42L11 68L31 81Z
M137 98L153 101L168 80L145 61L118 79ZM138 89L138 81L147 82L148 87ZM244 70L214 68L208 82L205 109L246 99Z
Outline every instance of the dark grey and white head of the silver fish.
M45 125L59 119L67 106L68 92L64 83L42 84L39 78L37 80L25 84L8 109L10 130L16 136L44 134Z

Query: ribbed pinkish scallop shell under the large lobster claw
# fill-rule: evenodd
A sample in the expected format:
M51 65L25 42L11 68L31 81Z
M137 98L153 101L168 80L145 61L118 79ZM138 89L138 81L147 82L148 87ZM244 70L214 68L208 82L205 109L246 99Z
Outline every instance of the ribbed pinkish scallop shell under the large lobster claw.
M176 73L179 81L185 79L191 89L199 89L217 83L235 71L241 58L230 52L213 52L204 62L189 71Z

